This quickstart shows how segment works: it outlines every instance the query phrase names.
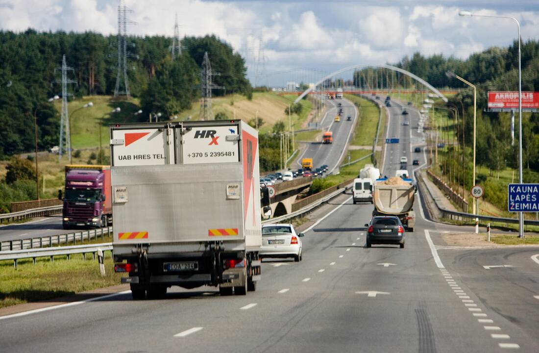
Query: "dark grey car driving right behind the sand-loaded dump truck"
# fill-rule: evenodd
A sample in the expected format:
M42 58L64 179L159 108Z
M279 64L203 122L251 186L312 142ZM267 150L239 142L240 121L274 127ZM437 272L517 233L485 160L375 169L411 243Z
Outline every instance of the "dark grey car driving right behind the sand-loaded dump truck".
M400 219L395 216L372 217L371 222L365 224L367 231L367 247L372 244L398 244L404 248L404 227Z

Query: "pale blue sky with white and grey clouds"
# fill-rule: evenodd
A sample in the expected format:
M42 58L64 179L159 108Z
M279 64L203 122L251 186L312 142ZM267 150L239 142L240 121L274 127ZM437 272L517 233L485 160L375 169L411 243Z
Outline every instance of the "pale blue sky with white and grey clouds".
M516 39L511 20L459 17L460 10L516 17L524 40L539 38L539 0L125 1L133 10L129 18L136 22L130 33L171 36L177 12L180 36L217 34L247 58L251 80L262 61L272 81L278 71L308 67L330 72L356 64L396 63L416 51L466 58ZM115 33L118 4L0 0L0 28ZM265 60L257 60L259 53Z

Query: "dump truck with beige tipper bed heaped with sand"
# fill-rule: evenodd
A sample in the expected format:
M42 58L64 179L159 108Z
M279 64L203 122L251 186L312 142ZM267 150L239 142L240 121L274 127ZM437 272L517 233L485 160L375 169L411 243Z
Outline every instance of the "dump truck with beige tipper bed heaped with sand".
M413 232L416 212L413 202L416 186L400 177L377 179L372 200L375 206L372 216L397 216L406 230Z

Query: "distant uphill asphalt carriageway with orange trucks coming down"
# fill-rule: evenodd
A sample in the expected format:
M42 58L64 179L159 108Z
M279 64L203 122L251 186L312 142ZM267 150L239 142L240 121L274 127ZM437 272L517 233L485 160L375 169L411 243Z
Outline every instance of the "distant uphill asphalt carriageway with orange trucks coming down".
M333 132L333 143L323 144L321 142L311 142L296 162L296 167L301 168L302 158L313 158L313 167L318 168L321 165L327 164L328 172L333 171L339 164L343 156L343 151L348 145L348 140L355 126L357 119L357 109L352 102L347 99L327 99L328 111L324 115L321 126L323 131ZM337 104L341 103L341 107ZM338 108L343 109L341 121L335 122L334 118L337 115ZM350 115L351 121L347 121L346 117Z

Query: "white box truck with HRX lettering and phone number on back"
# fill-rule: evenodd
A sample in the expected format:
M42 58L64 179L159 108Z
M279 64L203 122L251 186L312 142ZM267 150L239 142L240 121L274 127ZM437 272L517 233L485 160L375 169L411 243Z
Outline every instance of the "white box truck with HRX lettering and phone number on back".
M133 299L245 295L260 278L258 133L243 121L110 128L113 251Z

